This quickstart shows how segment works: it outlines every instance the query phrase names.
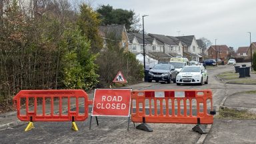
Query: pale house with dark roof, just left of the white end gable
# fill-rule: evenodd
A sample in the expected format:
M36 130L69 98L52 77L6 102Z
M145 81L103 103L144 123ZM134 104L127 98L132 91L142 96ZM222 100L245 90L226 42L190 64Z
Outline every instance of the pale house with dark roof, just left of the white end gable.
M155 39L163 43L164 53L167 53L173 57L183 56L182 44L181 44L181 41L179 41L179 39L174 40L174 39L171 39L171 36L168 37L165 35L157 35L152 33L149 33L148 35L151 37L154 37Z

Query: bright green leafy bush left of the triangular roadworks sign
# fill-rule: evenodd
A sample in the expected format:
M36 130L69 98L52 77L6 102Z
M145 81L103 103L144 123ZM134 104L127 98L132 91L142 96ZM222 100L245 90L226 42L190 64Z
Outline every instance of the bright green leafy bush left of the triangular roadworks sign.
M67 50L63 57L63 83L67 89L89 90L98 83L94 63L97 55L91 53L91 45L78 29L65 33L61 47Z

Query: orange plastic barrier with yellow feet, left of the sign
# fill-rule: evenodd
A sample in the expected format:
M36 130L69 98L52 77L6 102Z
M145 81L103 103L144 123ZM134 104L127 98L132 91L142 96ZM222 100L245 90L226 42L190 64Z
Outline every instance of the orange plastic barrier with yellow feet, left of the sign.
M41 99L41 100L39 100ZM59 103L54 103L54 100L58 99ZM63 99L67 100L67 103L63 105ZM71 111L71 99L75 99L75 111ZM82 101L79 101L82 99ZM47 113L46 102L51 101L49 113ZM21 121L72 121L73 129L78 130L75 121L85 121L88 117L88 105L91 105L93 101L88 99L87 93L81 89L77 90L23 90L19 91L13 98L15 107L17 108L17 117ZM25 114L21 114L21 101L25 102ZM30 102L30 103L29 103ZM40 104L39 104L40 103ZM72 103L72 104L73 104ZM79 105L84 103L83 113L79 112ZM40 106L39 106L40 105ZM58 105L58 109L54 109L54 105ZM38 111L38 107L41 107L41 111ZM63 107L67 107L67 112L63 111ZM31 109L33 109L31 111ZM57 114L55 111L58 111ZM29 126L30 125L30 126ZM29 123L25 131L33 128L33 123Z

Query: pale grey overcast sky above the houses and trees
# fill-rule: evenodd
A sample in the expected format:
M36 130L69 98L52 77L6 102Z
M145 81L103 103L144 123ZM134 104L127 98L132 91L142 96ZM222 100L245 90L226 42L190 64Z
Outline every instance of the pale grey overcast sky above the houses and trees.
M256 42L256 0L91 0L99 5L133 10L144 18L145 31L161 35L195 35L215 45L249 46ZM142 18L141 18L142 23ZM180 31L178 33L177 31Z

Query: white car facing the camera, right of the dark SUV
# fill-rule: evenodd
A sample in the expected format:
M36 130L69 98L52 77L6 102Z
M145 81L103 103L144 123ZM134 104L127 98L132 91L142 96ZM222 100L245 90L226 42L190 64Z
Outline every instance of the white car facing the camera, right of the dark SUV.
M203 65L187 65L176 76L177 85L185 83L208 84L208 73Z

